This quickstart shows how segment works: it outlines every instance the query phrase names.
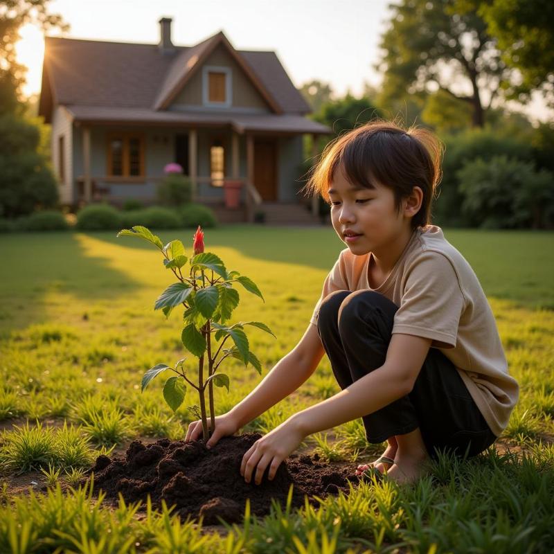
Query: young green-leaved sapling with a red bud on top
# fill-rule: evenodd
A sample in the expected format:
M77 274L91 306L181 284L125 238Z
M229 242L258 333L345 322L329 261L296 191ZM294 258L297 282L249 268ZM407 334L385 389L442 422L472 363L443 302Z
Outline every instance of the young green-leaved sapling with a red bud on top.
M260 361L250 351L244 325L253 325L275 337L269 327L260 321L239 321L229 325L231 314L240 301L240 296L238 291L233 288L233 283L240 283L248 292L256 294L264 302L265 300L260 289L250 278L241 275L238 271L227 271L218 256L211 252L204 252L204 231L200 226L193 236L193 254L190 258L186 255L185 247L180 240L171 240L163 246L160 238L146 227L136 225L132 229L122 229L117 236L121 235L147 240L163 254L164 267L172 271L178 282L172 283L160 294L154 303L154 310L162 310L167 320L175 307L184 306L181 342L188 352L198 359L196 382L188 375L188 368L185 366L186 357L184 357L179 359L173 367L157 364L150 368L143 376L141 391L144 391L152 379L163 371L170 370L175 373L176 375L169 377L163 385L163 397L170 408L177 411L184 401L186 384L195 388L198 392L199 406L189 406L188 409L202 420L203 437L204 440L208 440L206 388L208 388L212 433L215 429L213 386L224 386L229 392L229 375L220 372L222 361L228 357L240 359L245 366L251 364L260 375L262 373ZM185 270L187 262L188 273ZM214 346L212 345L212 334L216 343ZM234 346L223 348L229 337ZM219 348L213 354L217 343L219 343ZM207 368L205 367L206 361ZM206 377L204 378L204 376Z

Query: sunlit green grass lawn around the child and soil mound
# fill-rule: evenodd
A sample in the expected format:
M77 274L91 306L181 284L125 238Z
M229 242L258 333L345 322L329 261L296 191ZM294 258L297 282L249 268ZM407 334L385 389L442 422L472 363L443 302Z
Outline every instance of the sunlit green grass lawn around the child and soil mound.
M157 234L189 248L193 232ZM140 391L145 370L185 354L182 310L168 321L153 310L173 282L159 251L115 232L0 235L0 552L554 551L554 233L445 236L479 277L521 386L503 436L469 461L441 458L415 485L362 483L317 509L273 510L208 533L168 510L139 519L136 506L109 509L69 487L99 452L121 452L132 438L183 438L195 419L185 408L172 414L162 382ZM344 244L330 228L246 224L207 229L205 243L264 295L265 303L240 287L231 321L262 321L276 334L246 329L265 375L301 338ZM261 379L251 366L226 362L231 391L216 388L217 413ZM294 395L243 430L267 432L338 391L324 357ZM188 392L184 405L196 403ZM365 443L361 420L301 448L350 460L352 472L383 449Z

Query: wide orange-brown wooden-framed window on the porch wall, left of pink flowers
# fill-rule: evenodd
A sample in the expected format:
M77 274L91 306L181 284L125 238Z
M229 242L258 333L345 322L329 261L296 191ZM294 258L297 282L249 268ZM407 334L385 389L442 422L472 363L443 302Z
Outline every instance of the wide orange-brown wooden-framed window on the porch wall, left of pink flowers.
M144 137L117 133L108 136L107 173L111 177L144 177Z

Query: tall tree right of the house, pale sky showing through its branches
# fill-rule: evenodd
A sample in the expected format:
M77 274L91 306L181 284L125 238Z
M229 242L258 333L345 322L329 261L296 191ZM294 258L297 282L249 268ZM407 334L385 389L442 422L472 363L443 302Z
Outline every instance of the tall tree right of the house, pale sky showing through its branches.
M460 0L401 0L391 8L377 64L384 72L382 96L442 91L467 103L473 125L482 127L511 75L483 18Z

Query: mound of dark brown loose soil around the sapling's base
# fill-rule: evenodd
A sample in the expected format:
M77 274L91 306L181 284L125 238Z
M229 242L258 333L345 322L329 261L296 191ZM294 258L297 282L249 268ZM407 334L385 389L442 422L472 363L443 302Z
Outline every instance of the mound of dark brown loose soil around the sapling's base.
M204 440L171 441L168 438L143 445L135 440L125 457L98 456L94 472L94 489L102 489L106 498L117 501L118 493L127 502L141 500L148 494L152 505L161 507L175 504L181 517L204 517L206 525L219 524L217 516L228 523L242 521L244 503L250 499L251 513L263 516L269 513L271 499L286 505L289 486L294 485L292 506L303 506L304 495L311 503L314 496L325 498L348 491L348 481L356 483L352 467L332 467L317 454L292 454L283 461L274 479L269 481L266 469L260 485L253 479L246 483L240 475L242 456L262 435L249 433L224 437L211 449Z

